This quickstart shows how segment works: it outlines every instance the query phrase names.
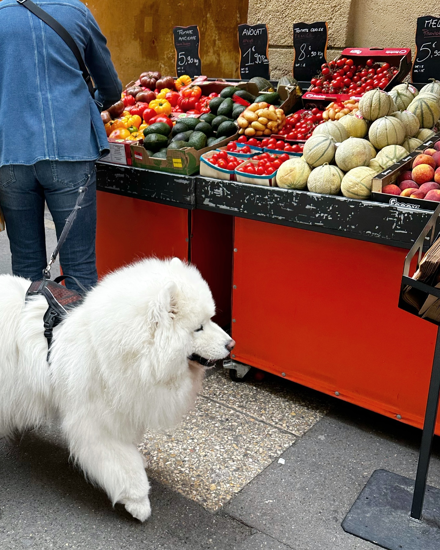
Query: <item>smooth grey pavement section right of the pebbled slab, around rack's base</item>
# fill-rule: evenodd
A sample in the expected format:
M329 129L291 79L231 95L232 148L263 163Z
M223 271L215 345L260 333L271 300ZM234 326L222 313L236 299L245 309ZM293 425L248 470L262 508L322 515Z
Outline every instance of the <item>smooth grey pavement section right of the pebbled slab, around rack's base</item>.
M414 479L420 434L340 402L224 511L294 550L374 550L340 523L374 470ZM438 439L428 482L440 487Z

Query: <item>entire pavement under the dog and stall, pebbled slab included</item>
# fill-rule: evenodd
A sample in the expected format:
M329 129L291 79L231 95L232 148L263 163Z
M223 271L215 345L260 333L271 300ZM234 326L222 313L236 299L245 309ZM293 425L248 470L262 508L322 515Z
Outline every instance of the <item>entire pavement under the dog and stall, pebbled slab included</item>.
M7 246L0 233L0 272ZM0 440L0 548L373 550L340 522L374 470L415 477L420 434L284 379L213 370L178 430L140 445L144 524L69 464L56 426ZM440 487L438 439L428 482Z

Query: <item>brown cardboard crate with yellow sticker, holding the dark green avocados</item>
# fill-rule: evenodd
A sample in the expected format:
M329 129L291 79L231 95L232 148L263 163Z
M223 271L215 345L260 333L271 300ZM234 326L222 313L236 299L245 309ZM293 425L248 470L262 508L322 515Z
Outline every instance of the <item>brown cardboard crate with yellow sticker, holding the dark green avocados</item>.
M238 138L238 134L230 136L215 145L205 147L197 151L194 147L185 147L184 149L168 150L167 158L149 157L144 147L139 145L131 146L131 160L136 168L147 168L149 170L158 170L161 172L171 172L172 174L191 175L199 172L200 157L208 151L218 149L227 145L229 141Z

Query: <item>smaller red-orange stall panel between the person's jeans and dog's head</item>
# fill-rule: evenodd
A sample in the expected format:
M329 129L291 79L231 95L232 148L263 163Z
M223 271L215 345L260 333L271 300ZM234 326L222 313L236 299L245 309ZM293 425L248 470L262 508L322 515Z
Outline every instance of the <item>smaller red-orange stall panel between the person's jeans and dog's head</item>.
M97 191L100 277L145 256L188 260L188 238L188 210Z

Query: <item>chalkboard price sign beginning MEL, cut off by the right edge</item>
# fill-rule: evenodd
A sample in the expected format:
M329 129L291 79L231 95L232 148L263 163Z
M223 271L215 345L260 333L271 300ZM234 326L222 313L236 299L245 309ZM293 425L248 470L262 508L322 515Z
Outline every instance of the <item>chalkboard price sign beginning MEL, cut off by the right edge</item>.
M427 82L440 77L440 18L417 18L416 53L412 62L412 82Z

